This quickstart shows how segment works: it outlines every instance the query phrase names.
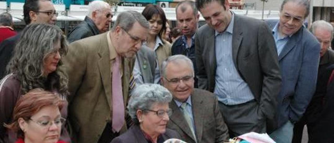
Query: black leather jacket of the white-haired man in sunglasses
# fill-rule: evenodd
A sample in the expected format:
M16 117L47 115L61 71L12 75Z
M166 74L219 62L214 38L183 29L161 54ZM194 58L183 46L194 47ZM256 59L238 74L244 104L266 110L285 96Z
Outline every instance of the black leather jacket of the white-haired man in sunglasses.
M67 40L71 43L76 40L98 34L100 34L98 27L96 27L91 18L86 16L85 20L83 20L78 26L74 27L74 29L69 33Z

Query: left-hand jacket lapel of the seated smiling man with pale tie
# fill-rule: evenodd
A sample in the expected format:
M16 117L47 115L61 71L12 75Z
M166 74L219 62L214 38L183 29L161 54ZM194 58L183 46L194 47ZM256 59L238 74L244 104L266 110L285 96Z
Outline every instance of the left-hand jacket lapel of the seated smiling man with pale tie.
M181 112L181 110L177 107L176 103L172 100L169 103L169 106L171 107L171 109L173 110L173 114L170 116L170 120L177 126L179 126L179 128L185 132L189 137L191 137L194 141L194 137L190 131L190 128L188 127L188 123L187 121L184 119L183 113Z

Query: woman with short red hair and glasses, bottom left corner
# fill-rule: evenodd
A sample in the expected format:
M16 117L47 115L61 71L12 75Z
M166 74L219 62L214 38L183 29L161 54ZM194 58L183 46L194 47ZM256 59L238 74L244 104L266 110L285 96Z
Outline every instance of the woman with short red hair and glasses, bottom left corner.
M59 141L65 122L62 108L63 100L56 93L33 89L17 101L13 121L5 126L17 134L15 143L66 143Z

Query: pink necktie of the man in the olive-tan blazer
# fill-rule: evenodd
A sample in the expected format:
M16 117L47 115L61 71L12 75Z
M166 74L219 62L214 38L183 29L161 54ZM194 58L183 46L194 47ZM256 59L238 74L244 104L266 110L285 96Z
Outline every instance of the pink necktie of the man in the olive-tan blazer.
M113 130L119 132L124 124L124 104L122 93L122 80L120 73L120 57L117 56L113 64L112 75L112 107L113 107Z

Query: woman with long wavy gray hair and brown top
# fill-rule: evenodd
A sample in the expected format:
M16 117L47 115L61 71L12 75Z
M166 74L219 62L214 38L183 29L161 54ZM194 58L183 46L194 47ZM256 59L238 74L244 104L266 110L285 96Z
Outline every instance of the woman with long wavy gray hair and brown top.
M31 89L42 88L59 95L65 102L62 117L67 117L67 79L59 70L67 45L65 36L55 25L30 24L23 29L7 66L9 74L0 82L0 142L16 140L2 125L10 123L17 100ZM64 127L61 139L69 141Z

